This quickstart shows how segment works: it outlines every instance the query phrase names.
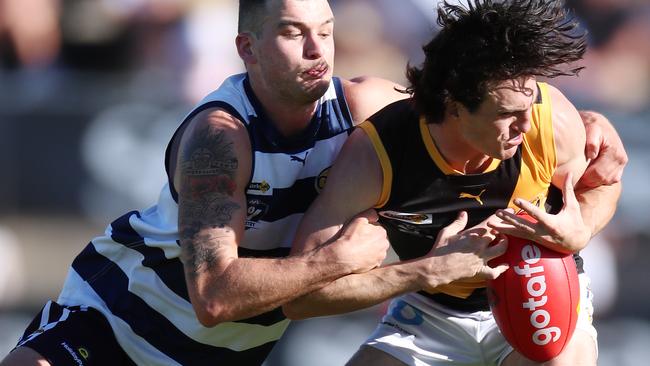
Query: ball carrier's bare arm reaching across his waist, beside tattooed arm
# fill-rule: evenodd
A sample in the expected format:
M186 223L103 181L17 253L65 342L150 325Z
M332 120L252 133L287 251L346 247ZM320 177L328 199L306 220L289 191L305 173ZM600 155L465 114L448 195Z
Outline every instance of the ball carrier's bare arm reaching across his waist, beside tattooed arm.
M303 218L293 250L301 252L316 247L335 235L357 212L373 207L379 201L382 183L379 159L365 132L357 129L339 154L325 189ZM366 308L406 292L433 290L477 274L495 278L505 267L493 269L484 264L501 255L505 243L487 248L492 237L471 230L459 233L466 223L467 215L460 215L439 235L435 249L423 258L339 278L286 304L284 312L292 319L339 314ZM349 245L359 243L350 242Z

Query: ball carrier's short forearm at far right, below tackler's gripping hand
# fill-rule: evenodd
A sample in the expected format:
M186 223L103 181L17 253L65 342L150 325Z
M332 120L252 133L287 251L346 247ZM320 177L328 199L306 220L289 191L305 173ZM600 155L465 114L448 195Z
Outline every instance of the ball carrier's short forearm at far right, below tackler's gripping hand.
M582 220L591 229L591 237L598 234L614 216L621 189L621 183L615 183L576 191Z

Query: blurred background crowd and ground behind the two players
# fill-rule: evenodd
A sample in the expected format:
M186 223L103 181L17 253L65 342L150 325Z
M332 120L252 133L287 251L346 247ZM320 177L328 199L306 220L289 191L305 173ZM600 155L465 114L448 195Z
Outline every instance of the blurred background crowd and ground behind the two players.
M330 3L336 74L405 83L436 31L436 0ZM630 156L618 212L584 252L599 364L639 365L650 359L650 1L567 6L589 30L587 68L554 83L607 115ZM155 201L180 119L243 70L236 27L235 0L0 0L0 358L76 253ZM342 365L383 309L294 322L266 365Z

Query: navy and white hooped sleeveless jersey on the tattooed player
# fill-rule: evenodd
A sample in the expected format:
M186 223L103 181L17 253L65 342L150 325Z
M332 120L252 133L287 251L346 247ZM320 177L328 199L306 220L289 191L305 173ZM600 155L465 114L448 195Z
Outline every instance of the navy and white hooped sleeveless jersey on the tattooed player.
M192 117L213 107L246 125L253 149L239 254L286 256L303 213L353 126L341 83L331 81L304 134L286 139L264 114L246 74L234 75L185 117L172 141ZM179 260L174 145L170 142L167 149L169 181L157 204L123 215L104 236L93 239L74 260L58 301L102 312L137 364L261 364L289 323L281 309L212 328L196 319Z

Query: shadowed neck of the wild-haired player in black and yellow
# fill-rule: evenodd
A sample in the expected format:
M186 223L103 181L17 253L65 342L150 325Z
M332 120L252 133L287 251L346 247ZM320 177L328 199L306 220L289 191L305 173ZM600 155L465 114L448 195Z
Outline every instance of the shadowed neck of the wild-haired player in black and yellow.
M458 125L445 119L439 124L428 124L436 148L447 164L463 174L483 172L492 158L469 145L458 130Z

